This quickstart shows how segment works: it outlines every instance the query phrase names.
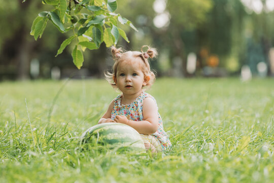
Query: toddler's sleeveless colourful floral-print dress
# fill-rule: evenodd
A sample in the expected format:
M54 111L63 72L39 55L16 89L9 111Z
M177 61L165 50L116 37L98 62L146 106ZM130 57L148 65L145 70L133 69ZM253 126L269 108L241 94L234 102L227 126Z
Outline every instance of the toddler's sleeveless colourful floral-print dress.
M121 104L122 94L118 95L114 99L114 106L111 113L111 118L114 119L116 115L125 115L130 120L134 120L134 121L144 120L143 102L144 102L144 99L147 97L152 98L156 103L156 100L154 99L154 97L152 97L148 93L142 92L141 95L134 100L134 102L132 102L131 104L123 105ZM168 139L167 134L163 130L163 121L159 113L158 113L158 119L159 119L158 129L152 135L155 136L156 139L160 142L162 150L165 150L171 146L171 143Z

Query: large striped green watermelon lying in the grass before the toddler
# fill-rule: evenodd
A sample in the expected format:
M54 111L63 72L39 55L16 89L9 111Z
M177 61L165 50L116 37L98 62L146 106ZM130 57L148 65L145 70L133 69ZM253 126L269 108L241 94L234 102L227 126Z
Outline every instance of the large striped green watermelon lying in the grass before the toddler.
M128 125L104 123L86 130L80 138L80 144L92 143L119 150L146 151L140 134Z

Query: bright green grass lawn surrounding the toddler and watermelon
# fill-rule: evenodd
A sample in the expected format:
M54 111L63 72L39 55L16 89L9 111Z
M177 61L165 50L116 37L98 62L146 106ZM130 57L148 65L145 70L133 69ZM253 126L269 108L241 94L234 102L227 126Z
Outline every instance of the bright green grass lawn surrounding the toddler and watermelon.
M78 147L118 95L105 80L2 82L0 181L273 182L273 81L158 79L173 147L156 156Z

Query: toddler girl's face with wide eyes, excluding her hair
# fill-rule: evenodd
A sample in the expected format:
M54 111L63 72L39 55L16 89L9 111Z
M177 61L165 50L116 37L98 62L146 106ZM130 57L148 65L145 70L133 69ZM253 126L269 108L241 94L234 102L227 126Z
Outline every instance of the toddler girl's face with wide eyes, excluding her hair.
M141 93L142 87L147 85L148 82L142 71L141 63L138 61L123 61L119 63L116 76L116 85L123 94L127 95Z

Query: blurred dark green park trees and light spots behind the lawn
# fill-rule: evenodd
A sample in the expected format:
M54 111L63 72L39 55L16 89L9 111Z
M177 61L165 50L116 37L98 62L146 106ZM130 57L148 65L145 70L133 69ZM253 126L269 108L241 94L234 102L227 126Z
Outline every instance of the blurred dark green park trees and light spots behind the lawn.
M274 76L274 0L117 0L123 17L138 32L121 26L130 40L117 47L157 48L151 66L158 77ZM38 0L0 0L0 81L100 78L113 65L104 43L86 50L78 70L67 47L70 35L48 23L41 39L29 35L32 21L47 6Z

